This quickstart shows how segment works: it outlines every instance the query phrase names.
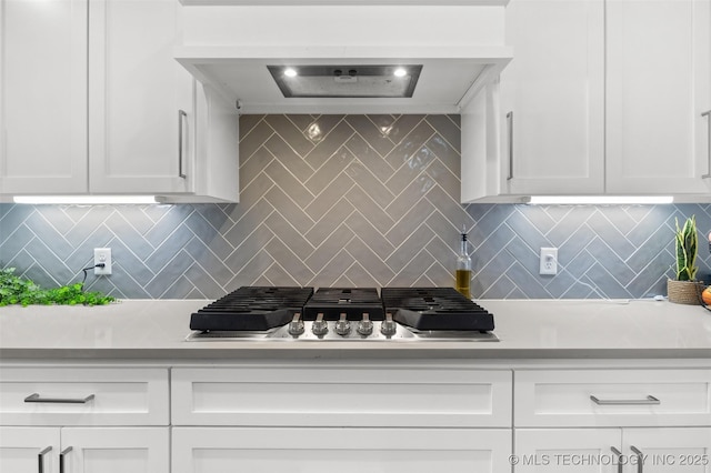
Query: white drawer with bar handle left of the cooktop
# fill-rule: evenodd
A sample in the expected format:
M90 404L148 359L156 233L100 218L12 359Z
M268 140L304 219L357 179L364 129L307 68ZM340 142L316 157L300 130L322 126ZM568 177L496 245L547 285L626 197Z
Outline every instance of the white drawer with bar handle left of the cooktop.
M168 370L3 368L2 425L168 425Z

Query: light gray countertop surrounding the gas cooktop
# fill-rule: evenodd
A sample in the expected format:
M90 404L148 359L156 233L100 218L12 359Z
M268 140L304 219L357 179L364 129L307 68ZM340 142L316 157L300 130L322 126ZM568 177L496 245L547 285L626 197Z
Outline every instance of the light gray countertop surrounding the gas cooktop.
M709 359L711 312L652 300L481 300L499 342L189 342L204 300L0 308L0 361L240 359Z

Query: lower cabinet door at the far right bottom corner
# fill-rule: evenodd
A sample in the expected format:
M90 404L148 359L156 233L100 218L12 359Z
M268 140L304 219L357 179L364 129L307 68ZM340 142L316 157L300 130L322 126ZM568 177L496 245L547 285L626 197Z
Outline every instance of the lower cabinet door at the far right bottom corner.
M623 454L642 463L644 473L711 472L711 427L624 429L622 441Z

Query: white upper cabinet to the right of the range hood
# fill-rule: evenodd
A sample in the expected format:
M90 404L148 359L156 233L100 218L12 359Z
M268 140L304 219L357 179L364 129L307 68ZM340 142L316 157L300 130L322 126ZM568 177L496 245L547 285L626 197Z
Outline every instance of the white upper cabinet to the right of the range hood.
M507 41L487 167L462 114L462 201L709 195L711 0L511 0Z

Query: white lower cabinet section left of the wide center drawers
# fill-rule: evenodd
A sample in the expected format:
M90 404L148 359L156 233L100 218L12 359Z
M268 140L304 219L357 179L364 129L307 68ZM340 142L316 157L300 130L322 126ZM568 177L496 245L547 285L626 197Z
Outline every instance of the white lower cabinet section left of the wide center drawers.
M167 369L3 366L0 472L169 473L168 389Z

